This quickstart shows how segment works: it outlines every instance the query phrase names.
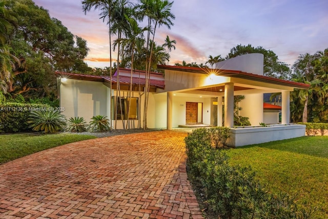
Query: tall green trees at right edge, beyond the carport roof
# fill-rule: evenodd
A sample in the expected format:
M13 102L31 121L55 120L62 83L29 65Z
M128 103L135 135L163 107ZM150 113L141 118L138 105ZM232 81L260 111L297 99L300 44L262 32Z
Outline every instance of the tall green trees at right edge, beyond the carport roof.
M291 112L295 122L328 121L327 57L327 49L313 55L305 53L293 65L293 80L310 84L308 90L295 89L291 93L294 102L291 104ZM300 108L303 109L301 114Z

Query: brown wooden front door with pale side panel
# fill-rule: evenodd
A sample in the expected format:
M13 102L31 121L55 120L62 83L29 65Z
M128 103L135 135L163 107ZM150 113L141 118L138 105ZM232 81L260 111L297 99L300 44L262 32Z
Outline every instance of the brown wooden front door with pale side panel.
M202 103L186 102L186 124L202 123Z

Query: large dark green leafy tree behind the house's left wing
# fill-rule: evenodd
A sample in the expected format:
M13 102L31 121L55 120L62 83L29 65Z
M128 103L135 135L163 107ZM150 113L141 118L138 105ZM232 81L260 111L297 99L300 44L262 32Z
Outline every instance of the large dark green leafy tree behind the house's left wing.
M54 71L86 72L86 41L74 36L47 10L31 0L9 0L6 7L17 14L11 46L19 59L7 83L8 92L26 97L56 98Z

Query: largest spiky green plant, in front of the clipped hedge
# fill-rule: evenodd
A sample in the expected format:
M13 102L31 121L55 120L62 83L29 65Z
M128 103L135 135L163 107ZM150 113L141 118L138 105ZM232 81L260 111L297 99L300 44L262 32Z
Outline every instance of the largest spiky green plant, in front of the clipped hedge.
M44 131L54 133L63 131L66 128L67 120L60 111L40 110L32 111L27 121L34 131Z

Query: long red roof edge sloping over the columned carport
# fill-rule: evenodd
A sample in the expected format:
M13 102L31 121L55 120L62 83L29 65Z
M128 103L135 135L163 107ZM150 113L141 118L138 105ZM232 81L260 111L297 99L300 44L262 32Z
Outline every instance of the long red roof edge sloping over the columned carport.
M236 71L236 70L197 68L197 67L185 67L185 66L166 66L166 65L158 65L157 68L164 69L164 70L172 70L172 71L186 71L186 72L198 73L198 74L210 74L211 72L215 72L216 75L220 75L220 76L237 77L237 78L249 79L252 81L283 85L283 86L300 88L300 89L308 89L310 87L310 85L304 83L286 81L274 77L268 77L268 76L263 76L263 75L258 75L258 74L243 72L243 71Z

